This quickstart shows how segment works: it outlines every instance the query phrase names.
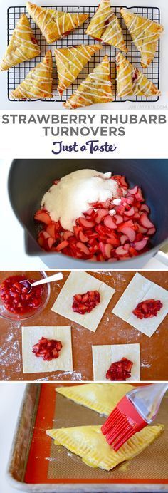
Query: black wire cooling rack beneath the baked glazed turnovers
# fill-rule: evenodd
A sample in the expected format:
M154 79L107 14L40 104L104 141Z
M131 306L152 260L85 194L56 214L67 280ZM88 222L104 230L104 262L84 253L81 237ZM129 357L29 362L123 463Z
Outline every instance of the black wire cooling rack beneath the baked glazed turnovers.
M123 5L122 5L123 6ZM103 60L103 56L108 55L110 58L110 66L111 66L111 78L112 78L112 92L115 97L115 101L117 102L123 102L123 101L145 101L146 103L152 102L152 101L157 101L159 98L157 96L147 98L145 96L133 96L131 98L119 98L117 96L117 84L116 84L116 70L115 70L115 56L118 53L116 48L110 46L110 45L102 45L102 48L100 51L96 52L92 58L90 58L90 61L88 64L83 68L83 71L81 71L78 75L78 78L75 80L73 84L70 85L70 87L65 90L63 95L59 95L58 91L56 89L58 85L58 78L56 74L56 61L55 61L55 56L54 56L54 51L56 48L65 48L65 46L76 46L78 44L95 44L98 43L98 41L95 41L91 36L87 36L85 34L85 30L89 24L89 20L93 17L95 14L95 11L97 9L97 6L48 6L48 9L57 9L59 11L68 11L71 14L75 14L76 12L80 12L80 14L89 14L89 19L81 26L79 29L76 29L73 31L71 34L66 36L65 38L61 38L60 40L56 41L55 43L52 43L51 45L48 45L46 43L45 38L43 38L41 31L38 29L36 24L34 24L33 20L29 16L28 12L26 11L26 6L19 6L19 7L9 7L8 9L8 43L11 39L12 33L14 31L14 28L16 27L16 24L19 20L19 17L21 14L26 14L28 16L28 19L31 22L31 28L33 29L33 32L35 34L35 37L39 43L39 46L41 47L41 54L40 56L36 56L36 58L33 58L33 60L26 61L24 63L20 63L18 66L15 66L11 68L8 72L8 98L10 101L13 101L11 98L11 90L14 90L17 85L19 85L23 79L26 77L28 72L36 67L37 63L39 63L43 56L46 54L46 51L50 50L52 51L52 56L53 56L53 96L52 98L47 98L45 101L65 101L67 100L70 95L78 88L78 85L88 76L88 73L93 71L93 68L100 63L100 61ZM125 7L127 8L127 7ZM120 6L114 6L112 7L112 11L117 15L120 25L122 27L122 33L125 38L125 43L127 46L127 58L128 60L137 68L140 68L140 70L145 73L149 81L152 81L157 88L159 88L159 41L157 44L157 51L155 53L154 61L152 61L151 65L147 69L142 69L141 64L140 64L140 52L137 51L134 43L132 43L132 39L130 37L129 31L127 31L127 28L125 26L125 22L123 21L121 15L120 15ZM139 14L140 16L145 16L148 19L152 19L155 22L159 23L160 20L160 12L158 7L130 7L130 11L134 12L135 14Z

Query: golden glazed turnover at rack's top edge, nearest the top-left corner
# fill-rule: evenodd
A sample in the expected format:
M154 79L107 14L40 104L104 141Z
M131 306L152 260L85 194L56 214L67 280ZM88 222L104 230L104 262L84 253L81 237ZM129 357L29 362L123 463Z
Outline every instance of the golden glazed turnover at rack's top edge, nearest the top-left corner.
M71 31L78 28L80 24L83 24L88 19L88 14L70 14L70 12L66 11L46 9L45 7L31 4L30 1L27 2L26 7L49 44L63 36L68 36Z

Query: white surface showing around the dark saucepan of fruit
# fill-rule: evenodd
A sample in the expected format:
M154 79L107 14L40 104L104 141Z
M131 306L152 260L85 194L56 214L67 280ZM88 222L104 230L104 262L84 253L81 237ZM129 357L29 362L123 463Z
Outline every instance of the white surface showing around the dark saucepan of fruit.
M51 270L46 268L40 257L28 256L24 251L23 228L16 219L8 196L7 182L10 166L11 160L0 160L0 207L3 204L5 211L1 214L0 270ZM165 270L167 267L168 258L162 252L145 266L147 269L159 270Z

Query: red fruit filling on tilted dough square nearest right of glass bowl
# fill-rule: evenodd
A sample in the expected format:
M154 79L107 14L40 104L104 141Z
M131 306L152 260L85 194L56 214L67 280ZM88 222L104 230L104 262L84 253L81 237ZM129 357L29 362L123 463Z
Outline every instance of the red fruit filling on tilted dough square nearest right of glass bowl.
M73 311L84 315L90 313L96 305L100 303L100 293L98 291L87 291L84 294L73 296Z

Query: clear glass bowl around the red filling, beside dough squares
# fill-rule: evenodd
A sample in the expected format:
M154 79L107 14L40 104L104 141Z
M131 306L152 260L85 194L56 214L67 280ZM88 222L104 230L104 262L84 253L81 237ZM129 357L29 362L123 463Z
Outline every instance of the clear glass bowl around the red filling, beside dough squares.
M38 281L40 279L43 279L47 277L46 272L43 271L6 271L3 272L3 275L0 275L0 284L5 281L8 277L11 276L24 276L24 279L33 279L33 281ZM28 318L32 318L33 316L37 315L38 313L41 313L44 308L46 308L46 305L48 303L48 300L50 298L50 293L51 293L51 288L50 284L46 283L43 284L43 290L41 294L42 302L41 305L38 306L37 308L32 308L31 311L28 311L27 313L11 313L10 311L6 310L3 300L1 299L0 296L0 317L2 318L7 318L8 320L26 320Z

